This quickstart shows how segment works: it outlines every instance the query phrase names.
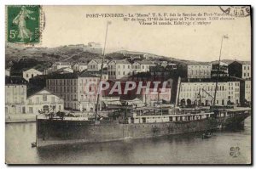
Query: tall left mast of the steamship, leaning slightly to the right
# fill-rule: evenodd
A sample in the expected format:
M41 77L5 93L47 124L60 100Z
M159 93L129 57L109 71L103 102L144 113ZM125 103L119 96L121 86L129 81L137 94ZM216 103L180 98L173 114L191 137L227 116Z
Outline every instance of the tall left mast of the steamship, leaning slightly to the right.
M105 49L106 49L106 43L107 43L107 37L108 37L108 25L110 25L111 22L107 22L107 28L105 33L105 42L104 42L104 48L102 50L102 66L101 66L101 76L100 76L100 83L99 85L102 85L102 73L103 73L103 65L104 65L104 58L105 58ZM96 112L95 112L95 121L97 121L97 113L99 109L99 101L100 101L100 92L97 92L97 102L96 102Z

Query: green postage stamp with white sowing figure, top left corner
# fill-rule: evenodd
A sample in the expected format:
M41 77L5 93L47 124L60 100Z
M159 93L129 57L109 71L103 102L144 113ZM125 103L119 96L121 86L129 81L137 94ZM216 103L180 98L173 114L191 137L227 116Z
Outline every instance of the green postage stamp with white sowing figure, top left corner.
M40 6L7 6L7 41L34 44L40 42Z

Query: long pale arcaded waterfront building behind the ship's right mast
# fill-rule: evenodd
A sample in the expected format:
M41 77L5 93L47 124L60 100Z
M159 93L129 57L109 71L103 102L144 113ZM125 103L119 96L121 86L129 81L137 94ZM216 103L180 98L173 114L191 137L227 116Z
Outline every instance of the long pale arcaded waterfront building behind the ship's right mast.
M216 82L181 82L179 104L212 105ZM240 82L218 82L216 105L240 104Z

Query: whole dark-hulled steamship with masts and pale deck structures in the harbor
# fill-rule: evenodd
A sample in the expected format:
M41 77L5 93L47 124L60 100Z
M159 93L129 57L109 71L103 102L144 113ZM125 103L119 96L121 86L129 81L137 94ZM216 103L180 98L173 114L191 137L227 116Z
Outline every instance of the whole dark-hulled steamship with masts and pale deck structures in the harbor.
M108 24L106 37L107 32ZM102 63L104 63L105 46ZM217 85L218 81L216 82ZM165 135L206 132L218 128L242 127L243 121L251 113L250 108L216 106L214 104L216 89L212 107L133 107L123 105L108 112L107 115L100 115L98 112L99 98L98 95L96 112L92 117L83 116L83 114L66 115L64 112L38 115L36 146L154 138Z

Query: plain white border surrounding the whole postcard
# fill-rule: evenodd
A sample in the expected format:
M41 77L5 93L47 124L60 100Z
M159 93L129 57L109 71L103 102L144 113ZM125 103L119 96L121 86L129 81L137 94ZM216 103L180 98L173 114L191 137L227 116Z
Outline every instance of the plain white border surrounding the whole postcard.
M137 4L137 5L143 5L143 4L157 4L157 5L219 5L219 4L231 4L231 5L239 5L239 4L251 4L252 7L256 6L256 1L253 0L243 0L243 1L238 1L238 0L233 0L233 1L229 1L229 0L214 0L214 1L203 1L203 0L196 0L196 1L189 1L189 0L179 0L179 1L168 1L168 0L130 0L130 1L120 1L120 0L108 0L108 1L102 1L102 0L87 0L87 1L83 1L83 0L61 0L61 1L57 1L57 0L34 0L34 1L29 1L29 0L12 0L12 1L8 1L8 0L2 0L1 1L1 6L0 6L0 56L1 56L1 60L0 60L0 67L2 67L2 69L4 69L4 63L5 63L5 5L8 4L41 4L41 5L79 5L79 4L83 4L83 5L125 5L125 4ZM253 12L255 13L255 10L253 10ZM253 17L253 23L255 21L255 16ZM253 26L254 27L254 26ZM253 43L253 47L255 48L255 42ZM253 65L255 65L255 59L253 59ZM254 69L255 70L255 69ZM255 71L253 71L253 75L255 75ZM2 81L0 81L1 84L1 90L0 90L0 96L1 97L1 106L0 106L0 112L1 112L1 118L0 118L0 133L2 133L2 137L0 139L0 146L1 146L1 151L0 151L0 168L7 168L9 166L6 166L4 164L5 161L5 136L4 136L4 131L5 131L5 123L4 123L4 76L5 73L4 71L0 71L0 75L1 75L1 79ZM255 82L253 83L255 84ZM255 86L255 85L254 85ZM254 87L253 86L253 87ZM253 96L254 93L253 93ZM253 97L253 105L256 104L255 98ZM253 115L253 112L252 112ZM254 120L255 121L255 120ZM253 125L253 136L255 136L255 125ZM255 146L255 145L254 145ZM253 155L253 157L255 157L255 155ZM253 161L255 162L255 158L253 158ZM255 165L254 165L255 166ZM253 166L253 167L254 167ZM15 168L32 168L32 167L36 167L36 166L16 166ZM37 166L37 168L44 168L45 166ZM63 166L49 166L48 168L62 168ZM78 166L65 166L65 168L73 168L73 167L78 167ZM86 168L92 168L93 166L84 166ZM106 167L106 166L105 166ZM112 166L108 166L108 168L110 168ZM115 167L115 166L114 166ZM123 166L124 167L124 166ZM139 166L135 166L135 168L137 168ZM148 168L150 166L147 166ZM158 168L159 166L154 166L154 168ZM181 168L184 168L186 166L181 166ZM196 167L196 166L195 166ZM211 166L212 167L212 166ZM225 166L217 166L218 168L224 168ZM241 167L241 166L238 166ZM152 167L150 167L152 168Z

